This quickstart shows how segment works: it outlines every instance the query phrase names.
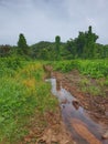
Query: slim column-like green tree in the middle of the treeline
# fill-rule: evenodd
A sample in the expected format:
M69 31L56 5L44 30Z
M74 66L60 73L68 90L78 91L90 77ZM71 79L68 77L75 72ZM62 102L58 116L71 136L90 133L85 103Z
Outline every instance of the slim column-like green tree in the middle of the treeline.
M55 51L56 51L56 59L57 59L57 60L61 59L60 47L61 47L61 37L60 37L60 35L56 35L56 37L55 37Z

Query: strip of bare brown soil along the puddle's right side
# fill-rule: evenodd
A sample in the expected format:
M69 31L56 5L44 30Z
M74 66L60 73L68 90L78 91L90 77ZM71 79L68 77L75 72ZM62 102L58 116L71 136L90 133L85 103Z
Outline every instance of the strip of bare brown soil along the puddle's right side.
M102 88L99 95L91 95L89 92L83 92L83 86L87 88L89 85L80 85L80 82L86 78L80 75L77 70L69 73L53 72L52 76L55 76L57 81L62 82L62 86L69 91L74 95L82 106L87 110L89 115L97 122L108 125L108 94L102 95L102 92L107 92L108 88ZM89 80L89 84L93 86L98 85L95 79L86 78Z

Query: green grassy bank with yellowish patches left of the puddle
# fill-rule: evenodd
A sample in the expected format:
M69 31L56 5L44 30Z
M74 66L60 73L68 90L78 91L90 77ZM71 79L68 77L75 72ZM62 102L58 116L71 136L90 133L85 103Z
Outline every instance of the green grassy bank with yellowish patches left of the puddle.
M57 102L50 90L40 62L0 59L0 143L21 141L33 115L55 110Z

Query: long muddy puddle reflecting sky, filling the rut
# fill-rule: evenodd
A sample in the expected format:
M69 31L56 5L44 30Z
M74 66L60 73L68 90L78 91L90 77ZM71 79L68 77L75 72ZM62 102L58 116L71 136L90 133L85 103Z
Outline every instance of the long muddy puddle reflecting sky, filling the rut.
M60 101L63 120L76 144L108 144L108 140L101 138L105 127L87 115L79 102L62 88L61 82L56 82L56 79L47 81L52 84L52 93Z

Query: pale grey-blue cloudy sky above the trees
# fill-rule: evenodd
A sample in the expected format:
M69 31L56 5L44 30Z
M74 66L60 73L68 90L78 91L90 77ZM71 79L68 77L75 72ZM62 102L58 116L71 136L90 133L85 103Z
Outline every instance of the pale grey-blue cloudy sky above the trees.
M108 44L108 0L0 0L0 44L17 44L19 33L28 44L67 41L89 25Z

